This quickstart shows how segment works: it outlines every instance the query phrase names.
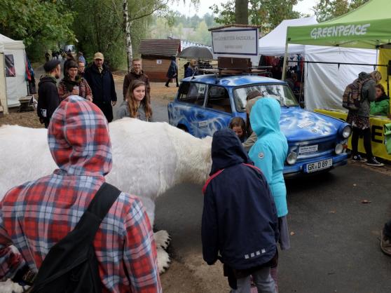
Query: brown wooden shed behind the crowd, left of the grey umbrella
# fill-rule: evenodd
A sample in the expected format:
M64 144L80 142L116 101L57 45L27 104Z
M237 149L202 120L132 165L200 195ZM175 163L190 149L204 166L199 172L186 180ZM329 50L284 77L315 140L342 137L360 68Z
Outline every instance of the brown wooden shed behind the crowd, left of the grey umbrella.
M152 39L142 40L139 53L142 57L142 69L149 76L150 81L166 81L170 57L181 52L179 39Z

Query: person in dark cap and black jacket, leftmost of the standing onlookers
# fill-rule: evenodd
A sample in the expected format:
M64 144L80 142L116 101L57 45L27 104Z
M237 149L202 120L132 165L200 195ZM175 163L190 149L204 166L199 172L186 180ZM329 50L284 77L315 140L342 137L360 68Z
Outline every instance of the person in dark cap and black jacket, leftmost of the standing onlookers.
M53 112L60 104L60 97L57 91L57 79L60 79L60 61L52 59L43 64L46 74L41 76L38 83L38 105L36 112L39 121L48 128Z

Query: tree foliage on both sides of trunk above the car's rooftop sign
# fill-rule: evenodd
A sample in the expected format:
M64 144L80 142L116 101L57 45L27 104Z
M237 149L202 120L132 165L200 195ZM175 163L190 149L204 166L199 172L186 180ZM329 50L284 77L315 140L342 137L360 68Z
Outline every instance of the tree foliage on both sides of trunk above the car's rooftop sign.
M259 25L263 33L275 28L282 20L299 18L300 13L293 6L300 0L249 0L249 24ZM210 7L217 17L214 19L222 25L235 23L235 0Z

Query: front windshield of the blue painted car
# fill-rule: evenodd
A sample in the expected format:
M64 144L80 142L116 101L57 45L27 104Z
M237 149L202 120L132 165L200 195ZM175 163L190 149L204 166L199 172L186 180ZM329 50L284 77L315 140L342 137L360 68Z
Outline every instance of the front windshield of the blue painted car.
M233 90L233 99L235 100L235 106L238 111L246 111L247 95L255 90L258 90L262 97L273 97L280 102L282 107L299 106L288 86L283 84L259 84L235 88Z

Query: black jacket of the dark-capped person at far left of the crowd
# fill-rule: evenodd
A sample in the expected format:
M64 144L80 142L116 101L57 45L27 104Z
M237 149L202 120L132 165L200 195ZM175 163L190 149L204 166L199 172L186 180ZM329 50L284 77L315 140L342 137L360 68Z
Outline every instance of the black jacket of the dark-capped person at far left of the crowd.
M60 104L57 81L53 76L42 76L38 83L38 105L36 113L41 122L48 128L50 118Z

